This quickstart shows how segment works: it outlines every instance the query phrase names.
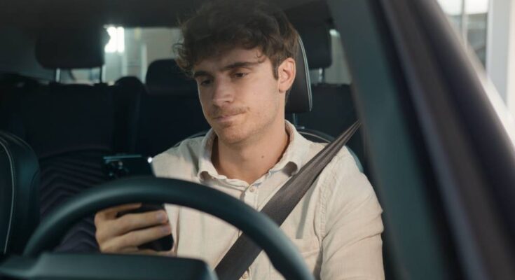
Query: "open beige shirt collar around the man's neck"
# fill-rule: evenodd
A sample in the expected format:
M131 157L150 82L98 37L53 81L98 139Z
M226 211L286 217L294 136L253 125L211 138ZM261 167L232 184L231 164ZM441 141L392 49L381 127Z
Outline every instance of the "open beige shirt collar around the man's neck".
M300 169L307 161L306 157L308 156L311 142L298 133L295 126L289 123L289 121L285 121L285 126L289 135L288 147L282 154L281 160L277 162L269 172L281 171L287 165L291 164L291 175L293 175L296 174L298 169ZM217 169L214 168L213 162L211 161L215 137L217 137L217 134L213 129L211 129L207 132L204 139L202 139L199 153L200 157L198 160L198 178L202 178L202 174L207 173L217 179L227 179L226 176L218 174Z

